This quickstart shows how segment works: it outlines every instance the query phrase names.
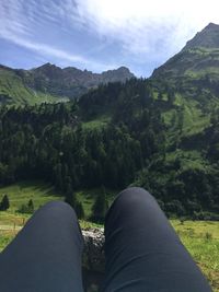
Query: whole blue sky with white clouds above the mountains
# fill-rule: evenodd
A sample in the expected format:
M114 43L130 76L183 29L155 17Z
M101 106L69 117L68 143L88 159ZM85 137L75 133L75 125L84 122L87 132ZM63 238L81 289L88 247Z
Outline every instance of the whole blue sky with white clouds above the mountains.
M149 77L208 23L219 24L218 10L218 0L0 0L0 63L125 66Z

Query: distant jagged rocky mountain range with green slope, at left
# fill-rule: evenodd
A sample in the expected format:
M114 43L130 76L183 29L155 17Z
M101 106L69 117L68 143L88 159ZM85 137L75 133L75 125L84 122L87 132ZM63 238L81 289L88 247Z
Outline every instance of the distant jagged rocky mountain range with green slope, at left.
M101 74L73 67L45 63L31 70L0 66L0 103L35 104L68 101L108 82L125 82L135 75L126 67Z

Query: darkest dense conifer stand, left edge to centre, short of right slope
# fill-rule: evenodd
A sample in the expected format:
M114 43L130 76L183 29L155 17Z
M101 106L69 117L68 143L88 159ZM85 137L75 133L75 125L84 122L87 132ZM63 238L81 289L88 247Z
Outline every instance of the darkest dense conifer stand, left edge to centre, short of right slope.
M131 80L100 90L108 96L103 107L115 105L106 127L88 130L85 108L103 100L99 91L76 103L0 109L0 183L11 184L21 178L44 178L68 194L71 188L105 185L123 188L135 179L152 155L164 149L161 117L150 100L149 85ZM139 91L141 95L137 95ZM116 95L120 100L116 102ZM128 101L128 102L127 102ZM116 117L125 104L120 118ZM102 105L100 105L102 107ZM140 112L139 112L140 110Z

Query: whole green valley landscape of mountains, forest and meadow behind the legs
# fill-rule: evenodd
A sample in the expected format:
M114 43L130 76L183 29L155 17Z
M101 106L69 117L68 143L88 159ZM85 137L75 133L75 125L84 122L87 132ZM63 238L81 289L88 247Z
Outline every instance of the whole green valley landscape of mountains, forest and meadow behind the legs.
M218 292L218 39L210 23L148 79L0 66L0 249L48 201L100 226L116 194L139 186Z

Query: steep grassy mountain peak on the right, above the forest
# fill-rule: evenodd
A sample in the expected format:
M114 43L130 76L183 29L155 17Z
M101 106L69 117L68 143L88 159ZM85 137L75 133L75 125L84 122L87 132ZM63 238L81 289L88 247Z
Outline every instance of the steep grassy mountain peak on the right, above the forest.
M176 122L183 125L182 139L201 133L211 122L219 106L218 39L219 25L210 23L150 78L161 100L174 101L175 108L163 110L170 137L174 137Z

